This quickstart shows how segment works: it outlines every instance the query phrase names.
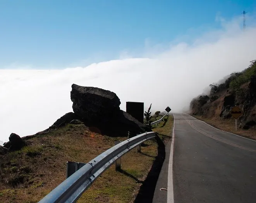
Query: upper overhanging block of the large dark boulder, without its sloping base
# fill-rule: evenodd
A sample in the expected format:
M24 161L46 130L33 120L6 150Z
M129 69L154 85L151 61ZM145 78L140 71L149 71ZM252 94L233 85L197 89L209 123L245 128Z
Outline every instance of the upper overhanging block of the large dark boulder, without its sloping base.
M74 113L88 122L112 117L120 110L120 100L112 91L73 84L70 97Z

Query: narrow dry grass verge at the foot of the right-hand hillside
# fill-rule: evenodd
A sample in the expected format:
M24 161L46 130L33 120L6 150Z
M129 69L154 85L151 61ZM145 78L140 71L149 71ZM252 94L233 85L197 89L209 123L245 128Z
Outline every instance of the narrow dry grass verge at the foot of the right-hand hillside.
M221 119L221 118L203 118L202 116L195 116L192 115L195 118L198 118L199 120L203 120L204 122L212 125L213 127L216 127L217 129L224 130L227 132L231 132L237 135L241 135L244 137L248 137L250 139L256 140L256 130L255 128L244 130L238 127L237 125L237 131L235 131L235 119Z

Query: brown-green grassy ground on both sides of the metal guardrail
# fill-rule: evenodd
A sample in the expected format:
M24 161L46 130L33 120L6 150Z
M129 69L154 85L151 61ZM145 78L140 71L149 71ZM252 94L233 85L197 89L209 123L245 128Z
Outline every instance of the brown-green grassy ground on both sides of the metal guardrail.
M169 117L170 118L170 117ZM165 124L163 126L163 124ZM164 140L170 137L172 119L161 122L158 128ZM0 202L38 202L65 180L66 161L88 162L113 146L115 140L126 137L108 137L90 132L84 125L66 125L49 134L27 140L20 151L0 155ZM81 196L78 202L131 202L155 157L155 139L121 158L122 171L112 165ZM136 164L134 164L136 163Z

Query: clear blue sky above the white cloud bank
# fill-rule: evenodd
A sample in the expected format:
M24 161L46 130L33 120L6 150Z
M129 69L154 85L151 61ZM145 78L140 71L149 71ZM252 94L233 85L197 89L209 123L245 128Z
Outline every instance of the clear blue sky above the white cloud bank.
M145 41L168 44L256 12L255 0L0 0L0 69L51 69L141 56ZM241 24L242 26L242 24Z

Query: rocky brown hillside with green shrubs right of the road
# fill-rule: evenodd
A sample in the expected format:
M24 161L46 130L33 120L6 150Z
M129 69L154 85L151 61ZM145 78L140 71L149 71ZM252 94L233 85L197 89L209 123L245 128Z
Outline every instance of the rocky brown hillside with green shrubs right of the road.
M228 130L234 122L230 114L233 107L243 111L237 119L241 135L256 138L256 60L248 68L227 76L220 84L210 84L210 92L194 98L190 103L190 113L223 130ZM232 127L234 129L234 127ZM232 131L232 130L231 130Z

